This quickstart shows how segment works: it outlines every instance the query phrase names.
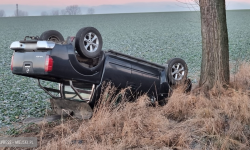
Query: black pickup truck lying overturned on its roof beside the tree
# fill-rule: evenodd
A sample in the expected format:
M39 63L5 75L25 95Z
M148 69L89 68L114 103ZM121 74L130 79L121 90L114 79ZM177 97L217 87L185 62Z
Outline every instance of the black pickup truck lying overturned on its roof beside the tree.
M82 28L67 40L58 31L49 30L40 37L13 42L10 48L14 50L12 73L38 79L58 114L64 109L76 117L90 118L104 81L118 89L130 87L132 93L146 93L161 104L170 96L172 86L188 83L185 92L192 86L184 60L173 58L163 66L112 50L102 51L102 37L93 27ZM43 87L40 80L57 82L59 89Z

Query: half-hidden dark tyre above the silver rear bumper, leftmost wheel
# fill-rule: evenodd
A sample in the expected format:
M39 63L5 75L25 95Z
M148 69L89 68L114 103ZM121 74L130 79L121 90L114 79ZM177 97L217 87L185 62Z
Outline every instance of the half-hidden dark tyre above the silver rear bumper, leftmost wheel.
M61 43L64 41L62 34L56 30L48 30L42 33L39 40L53 41L55 43Z

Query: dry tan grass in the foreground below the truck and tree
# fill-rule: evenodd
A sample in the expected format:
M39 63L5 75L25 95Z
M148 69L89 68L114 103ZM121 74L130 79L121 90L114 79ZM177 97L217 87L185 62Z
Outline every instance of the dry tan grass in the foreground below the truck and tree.
M146 95L126 102L127 89L116 104L118 95L108 86L91 120L45 127L37 134L39 149L250 149L249 70L243 64L232 75L233 88L221 95L208 99L177 89L163 107L151 106Z

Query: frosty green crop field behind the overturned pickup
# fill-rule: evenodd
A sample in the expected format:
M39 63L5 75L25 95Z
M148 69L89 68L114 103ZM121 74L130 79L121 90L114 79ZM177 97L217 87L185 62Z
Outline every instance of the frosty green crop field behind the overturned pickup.
M250 58L250 11L227 12L230 61ZM36 80L13 75L11 42L46 30L66 38L82 27L93 26L103 37L103 50L116 50L159 64L180 57L187 62L195 82L200 71L201 31L199 12L106 14L0 18L0 127L29 116L42 116L49 98ZM46 82L48 86L57 87Z

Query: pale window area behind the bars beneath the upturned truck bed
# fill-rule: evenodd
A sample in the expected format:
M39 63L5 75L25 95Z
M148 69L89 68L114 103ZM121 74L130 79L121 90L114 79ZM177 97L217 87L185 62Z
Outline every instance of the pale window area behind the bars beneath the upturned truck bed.
M92 86L84 88L75 88L83 99L90 99ZM64 97L68 100L81 100L75 91L68 85L63 86Z

